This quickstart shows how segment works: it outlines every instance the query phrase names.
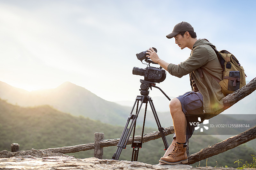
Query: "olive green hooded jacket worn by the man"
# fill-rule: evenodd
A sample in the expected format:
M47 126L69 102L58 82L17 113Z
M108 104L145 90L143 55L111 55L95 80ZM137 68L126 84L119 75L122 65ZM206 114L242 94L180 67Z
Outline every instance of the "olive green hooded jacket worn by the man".
M191 55L188 59L178 65L169 64L168 72L176 77L181 78L189 73L195 79L198 90L203 95L204 113L214 113L223 107L224 94L221 92L219 83L210 75L202 72L200 76L198 68L203 68L212 76L222 79L222 68L216 53L206 40L197 40L193 45Z

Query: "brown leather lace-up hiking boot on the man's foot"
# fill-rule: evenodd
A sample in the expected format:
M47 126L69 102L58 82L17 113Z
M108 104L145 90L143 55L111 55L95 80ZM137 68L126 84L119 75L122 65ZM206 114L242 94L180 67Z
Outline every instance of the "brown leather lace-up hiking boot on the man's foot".
M179 163L185 164L188 163L188 158L187 158L187 145L186 147L183 147L184 144L178 144L173 143L174 146L172 152L167 156L167 157L162 157L159 162L164 163L164 164L169 164L169 165L176 165ZM185 145L184 145L185 146Z

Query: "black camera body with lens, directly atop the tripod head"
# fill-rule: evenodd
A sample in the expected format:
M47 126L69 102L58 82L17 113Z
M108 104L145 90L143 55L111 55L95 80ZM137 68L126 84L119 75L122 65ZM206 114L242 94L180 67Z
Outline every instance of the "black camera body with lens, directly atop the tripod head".
M156 67L147 67L145 69L133 67L132 74L144 76L144 80L160 83L166 78L165 70Z

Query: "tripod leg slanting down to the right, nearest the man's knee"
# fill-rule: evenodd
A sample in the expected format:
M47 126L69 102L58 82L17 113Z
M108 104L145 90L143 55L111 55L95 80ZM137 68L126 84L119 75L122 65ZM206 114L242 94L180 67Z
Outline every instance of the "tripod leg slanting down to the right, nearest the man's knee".
M155 108L155 106L154 106L154 104L153 104L153 101L152 101L151 97L147 96L147 98L148 98L148 102L149 102L149 104L150 104L151 110L152 110L152 112L153 112L153 115L154 115L154 117L155 117L158 130L159 130L159 132L160 132L160 134L161 134L161 137L162 137L162 140L163 140L163 142L164 142L165 150L167 150L167 149L169 148L169 145L168 145L167 140L166 140L166 137L165 137L165 135L164 135L164 130L165 130L165 129L164 129L164 128L161 126L161 124L160 124L160 121L159 121L158 116L157 116L157 114L156 114L156 108Z

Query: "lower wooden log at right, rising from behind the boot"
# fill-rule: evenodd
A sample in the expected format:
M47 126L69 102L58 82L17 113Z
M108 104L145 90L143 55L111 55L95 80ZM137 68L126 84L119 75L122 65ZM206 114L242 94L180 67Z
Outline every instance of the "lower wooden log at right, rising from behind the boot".
M248 129L239 135L229 137L228 139L214 144L212 146L201 149L199 152L196 152L190 156L188 156L187 164L194 164L200 160L212 157L214 155L218 155L219 153L228 151L230 149L235 148L241 144L244 144L250 140L256 138L256 126L251 129Z

